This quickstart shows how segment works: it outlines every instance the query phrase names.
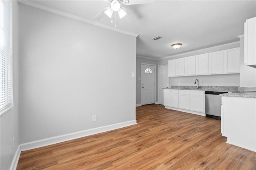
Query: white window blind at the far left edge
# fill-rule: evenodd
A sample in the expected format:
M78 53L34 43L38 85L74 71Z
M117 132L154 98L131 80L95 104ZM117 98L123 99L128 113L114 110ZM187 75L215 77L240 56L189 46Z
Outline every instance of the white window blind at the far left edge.
M0 116L13 107L12 1L0 0Z

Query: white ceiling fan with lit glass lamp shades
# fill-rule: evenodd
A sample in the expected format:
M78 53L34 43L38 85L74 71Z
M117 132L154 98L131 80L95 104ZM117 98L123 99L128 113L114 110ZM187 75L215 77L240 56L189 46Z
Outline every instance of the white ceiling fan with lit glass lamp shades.
M156 2L156 0L103 0L103 1L110 2L111 3L110 6L107 6L106 8L104 8L93 19L100 20L106 14L109 18L111 18L111 22L113 22L112 16L114 12L115 12L115 17L116 17L116 14L118 14L120 19L126 16L126 14L130 15L124 7L121 7L121 4L135 5L135 4L148 4L148 3Z

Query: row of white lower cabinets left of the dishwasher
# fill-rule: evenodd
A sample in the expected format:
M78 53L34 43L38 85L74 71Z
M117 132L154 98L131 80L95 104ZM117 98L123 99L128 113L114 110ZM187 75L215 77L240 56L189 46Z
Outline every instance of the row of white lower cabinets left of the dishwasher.
M164 89L164 106L167 109L204 115L204 91Z

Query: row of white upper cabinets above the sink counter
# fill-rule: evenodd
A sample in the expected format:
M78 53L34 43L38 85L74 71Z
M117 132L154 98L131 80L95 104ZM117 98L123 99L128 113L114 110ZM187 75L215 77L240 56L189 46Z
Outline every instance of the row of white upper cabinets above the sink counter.
M240 73L240 47L168 61L169 77L232 73Z

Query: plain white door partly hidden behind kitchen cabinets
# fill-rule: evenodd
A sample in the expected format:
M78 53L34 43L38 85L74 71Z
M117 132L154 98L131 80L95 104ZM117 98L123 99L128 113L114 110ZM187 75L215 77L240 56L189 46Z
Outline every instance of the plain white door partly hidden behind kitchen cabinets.
M169 87L168 65L158 66L158 104L164 105L164 89Z

